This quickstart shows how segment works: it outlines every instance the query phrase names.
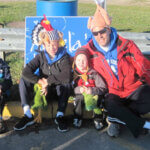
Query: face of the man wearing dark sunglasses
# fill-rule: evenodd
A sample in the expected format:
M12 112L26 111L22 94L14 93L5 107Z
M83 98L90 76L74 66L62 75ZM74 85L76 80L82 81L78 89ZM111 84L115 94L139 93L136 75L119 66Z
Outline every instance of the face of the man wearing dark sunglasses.
M93 31L92 31L92 34L94 35L97 43L100 45L100 46L107 46L110 42L110 33L111 33L111 30L108 29L108 28L103 28L103 29L100 29L100 28L95 28Z

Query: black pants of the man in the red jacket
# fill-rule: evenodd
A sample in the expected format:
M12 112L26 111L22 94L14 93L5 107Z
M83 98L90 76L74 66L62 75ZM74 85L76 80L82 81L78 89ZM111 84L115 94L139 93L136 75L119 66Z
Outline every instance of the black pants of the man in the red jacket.
M105 108L109 116L123 121L137 137L145 123L145 119L140 115L150 112L150 86L142 85L125 99L108 94L105 98Z

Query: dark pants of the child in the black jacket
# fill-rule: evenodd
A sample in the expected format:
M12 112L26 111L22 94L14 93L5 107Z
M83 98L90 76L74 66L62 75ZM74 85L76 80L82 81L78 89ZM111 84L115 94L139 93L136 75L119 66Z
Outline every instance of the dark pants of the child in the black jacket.
M22 107L24 105L30 105L33 101L33 84L24 80L23 78L20 79L19 83L19 92L21 98ZM71 85L70 84L61 84L56 86L48 87L48 95L46 96L47 101L56 98L58 100L58 111L65 112L68 98L71 92Z

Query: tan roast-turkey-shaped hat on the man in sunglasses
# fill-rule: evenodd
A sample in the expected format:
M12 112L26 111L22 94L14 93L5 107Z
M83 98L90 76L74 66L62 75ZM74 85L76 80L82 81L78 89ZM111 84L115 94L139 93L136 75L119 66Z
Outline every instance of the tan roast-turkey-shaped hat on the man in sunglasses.
M111 19L108 16L107 12L97 4L97 9L95 11L95 14L92 17L89 17L88 20L88 29L93 31L94 28L98 27L99 29L103 29L105 27L110 28Z

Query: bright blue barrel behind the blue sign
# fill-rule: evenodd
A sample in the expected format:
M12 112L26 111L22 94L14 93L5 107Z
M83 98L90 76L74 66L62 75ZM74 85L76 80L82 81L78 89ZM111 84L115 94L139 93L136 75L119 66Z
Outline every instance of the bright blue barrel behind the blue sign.
M77 0L36 0L37 16L77 16Z

